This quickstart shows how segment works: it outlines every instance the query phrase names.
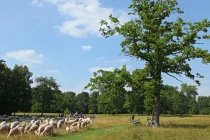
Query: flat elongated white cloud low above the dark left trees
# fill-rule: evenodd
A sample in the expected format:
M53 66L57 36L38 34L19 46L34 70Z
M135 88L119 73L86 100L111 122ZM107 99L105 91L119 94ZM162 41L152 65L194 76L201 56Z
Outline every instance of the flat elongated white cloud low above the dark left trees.
M6 53L6 57L13 58L27 63L42 63L45 58L43 54L38 54L34 50L19 50Z

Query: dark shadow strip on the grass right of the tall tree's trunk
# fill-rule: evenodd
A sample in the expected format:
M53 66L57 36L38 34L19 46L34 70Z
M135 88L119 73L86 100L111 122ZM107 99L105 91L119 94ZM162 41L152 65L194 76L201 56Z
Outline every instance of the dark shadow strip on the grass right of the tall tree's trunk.
M196 129L205 129L208 128L209 125L196 125L196 124L162 124L163 128L196 128Z

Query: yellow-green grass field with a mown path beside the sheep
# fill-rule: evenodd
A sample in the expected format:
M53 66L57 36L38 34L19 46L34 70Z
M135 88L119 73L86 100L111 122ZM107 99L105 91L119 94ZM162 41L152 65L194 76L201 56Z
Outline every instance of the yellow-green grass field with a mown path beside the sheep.
M148 128L146 116L141 118L141 126L134 127L128 121L129 115L99 115L86 130L67 134L64 128L56 130L52 137L43 140L210 140L210 116L161 116L160 128ZM0 139L6 135L0 134ZM34 134L17 136L12 140L37 140Z

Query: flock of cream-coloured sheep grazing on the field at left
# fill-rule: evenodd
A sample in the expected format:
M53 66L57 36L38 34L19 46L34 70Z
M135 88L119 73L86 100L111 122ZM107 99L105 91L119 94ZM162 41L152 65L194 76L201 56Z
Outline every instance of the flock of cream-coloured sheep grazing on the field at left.
M12 119L11 119L12 118ZM0 133L8 133L7 138L26 133L35 133L38 136L49 136L53 134L53 129L64 128L68 133L75 132L76 129L87 127L92 124L91 118L47 118L47 117L11 117L0 116ZM9 123L8 123L9 122Z

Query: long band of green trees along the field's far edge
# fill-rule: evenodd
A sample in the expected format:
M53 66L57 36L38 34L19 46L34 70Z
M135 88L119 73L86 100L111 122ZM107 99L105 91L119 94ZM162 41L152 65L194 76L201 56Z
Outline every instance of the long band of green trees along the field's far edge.
M10 69L0 60L0 114L14 112L83 112L152 114L154 97L146 70L99 70L85 88L91 93L62 92L53 77L37 77L27 66ZM31 87L34 83L35 87ZM198 96L193 85L181 89L162 84L162 114L210 114L210 97Z

